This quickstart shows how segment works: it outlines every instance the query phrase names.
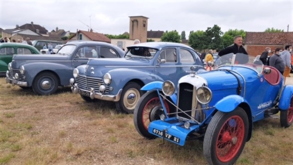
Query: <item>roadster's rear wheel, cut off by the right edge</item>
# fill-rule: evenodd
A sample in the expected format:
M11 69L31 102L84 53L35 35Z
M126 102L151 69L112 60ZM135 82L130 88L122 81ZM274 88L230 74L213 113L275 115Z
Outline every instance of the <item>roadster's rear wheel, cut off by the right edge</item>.
M293 97L287 110L280 110L280 123L282 127L288 128L293 123Z

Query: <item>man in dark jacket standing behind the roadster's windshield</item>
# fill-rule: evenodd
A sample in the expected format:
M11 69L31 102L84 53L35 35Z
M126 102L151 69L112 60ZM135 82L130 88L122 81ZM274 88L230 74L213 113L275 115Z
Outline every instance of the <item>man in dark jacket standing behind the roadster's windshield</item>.
M219 52L219 56L223 56L225 54L229 54L229 53L243 53L243 54L247 54L246 50L244 49L244 47L242 46L242 36L235 36L234 37L234 45L232 46L228 46L225 49L221 50Z

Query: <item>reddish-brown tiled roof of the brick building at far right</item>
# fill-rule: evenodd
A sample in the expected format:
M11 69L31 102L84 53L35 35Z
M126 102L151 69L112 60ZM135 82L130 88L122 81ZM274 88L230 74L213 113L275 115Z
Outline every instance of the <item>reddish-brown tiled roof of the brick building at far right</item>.
M244 43L261 45L293 44L293 32L246 32Z

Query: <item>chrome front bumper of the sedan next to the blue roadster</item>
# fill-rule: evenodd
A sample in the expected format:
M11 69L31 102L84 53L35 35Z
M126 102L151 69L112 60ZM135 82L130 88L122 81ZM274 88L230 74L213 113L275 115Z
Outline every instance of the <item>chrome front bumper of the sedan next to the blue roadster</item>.
M77 83L74 83L71 86L71 91L74 94L78 94L79 90L82 90L84 92L89 92L89 97L91 99L99 99L99 100L112 101L112 102L118 102L120 100L121 93L122 93L122 89L120 89L117 95L103 95L102 93L95 92L93 88L91 88L89 91L84 89L79 89L79 87L77 86Z

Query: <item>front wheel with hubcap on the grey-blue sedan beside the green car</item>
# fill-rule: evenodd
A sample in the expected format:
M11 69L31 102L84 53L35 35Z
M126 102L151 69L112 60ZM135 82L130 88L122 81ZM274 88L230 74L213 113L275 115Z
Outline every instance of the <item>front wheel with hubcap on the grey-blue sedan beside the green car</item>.
M58 78L51 72L42 72L33 81L32 88L38 95L51 95L58 89Z

